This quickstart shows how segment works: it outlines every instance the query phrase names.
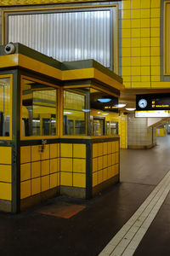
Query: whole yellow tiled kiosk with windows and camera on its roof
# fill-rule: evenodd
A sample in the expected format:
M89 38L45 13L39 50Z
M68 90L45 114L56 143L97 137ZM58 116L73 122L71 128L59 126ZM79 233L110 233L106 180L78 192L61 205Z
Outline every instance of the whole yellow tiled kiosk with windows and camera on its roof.
M0 210L56 195L89 199L119 181L122 79L94 60L0 47Z

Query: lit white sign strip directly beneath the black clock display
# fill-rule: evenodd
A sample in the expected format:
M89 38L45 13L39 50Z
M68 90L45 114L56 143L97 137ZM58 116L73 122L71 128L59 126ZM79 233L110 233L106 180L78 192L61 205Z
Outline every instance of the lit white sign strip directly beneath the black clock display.
M170 117L170 111L168 110L135 111L134 116L135 118Z

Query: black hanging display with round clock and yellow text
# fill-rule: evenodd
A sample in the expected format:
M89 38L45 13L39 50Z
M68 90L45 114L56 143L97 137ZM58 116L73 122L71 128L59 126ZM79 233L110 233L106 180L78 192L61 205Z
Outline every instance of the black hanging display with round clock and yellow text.
M170 93L137 95L136 110L170 110Z

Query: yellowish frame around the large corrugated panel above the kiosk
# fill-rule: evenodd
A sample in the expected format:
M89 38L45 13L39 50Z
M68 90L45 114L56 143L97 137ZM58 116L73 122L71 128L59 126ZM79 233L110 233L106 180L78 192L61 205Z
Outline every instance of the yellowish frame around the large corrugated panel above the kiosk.
M47 3L49 0L46 0ZM88 0L86 2L97 2L97 0ZM8 1L8 2L11 2L11 1ZM28 1L26 1L26 4ZM56 1L54 0L54 2L56 3ZM54 3L52 2L52 3ZM6 30L5 30L5 15L6 13L14 13L14 12L26 12L26 11L44 11L44 10L47 10L47 11L50 11L50 10L59 10L59 9L96 9L96 8L115 8L116 9L116 26L114 27L113 26L113 38L116 38L116 40L113 40L113 55L112 55L112 60L113 60L113 63L112 63L112 69L114 70L115 73L118 73L118 60L119 60L119 56L118 56L118 4L115 3L115 4L104 4L104 5L99 5L99 4L96 4L96 5L80 5L80 6L74 6L73 4L74 3L77 3L77 2L83 2L83 1L80 1L80 0L77 0L77 1L69 1L69 0L59 0L57 3L72 3L71 6L62 6L62 7L54 7L54 8L32 8L32 9L3 9L2 10L2 27L3 27L3 32L2 32L2 44L7 44L7 42L5 42L5 36L6 36ZM41 3L41 1L40 1ZM36 3L32 3L32 4L36 4ZM38 4L38 3L37 3ZM41 3L41 4L46 4L46 3ZM7 5L7 4L6 4ZM17 5L17 4L15 4ZM19 4L20 6L24 5L23 4ZM113 10L114 12L114 10ZM116 57L115 57L116 55Z

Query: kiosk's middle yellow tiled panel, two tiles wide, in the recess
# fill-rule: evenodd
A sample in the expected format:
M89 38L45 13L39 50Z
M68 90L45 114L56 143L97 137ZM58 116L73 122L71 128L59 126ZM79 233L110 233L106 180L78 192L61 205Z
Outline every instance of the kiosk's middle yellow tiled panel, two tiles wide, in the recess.
M86 144L60 144L60 185L86 188Z

